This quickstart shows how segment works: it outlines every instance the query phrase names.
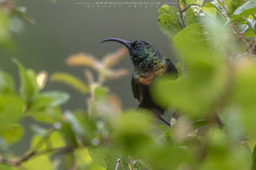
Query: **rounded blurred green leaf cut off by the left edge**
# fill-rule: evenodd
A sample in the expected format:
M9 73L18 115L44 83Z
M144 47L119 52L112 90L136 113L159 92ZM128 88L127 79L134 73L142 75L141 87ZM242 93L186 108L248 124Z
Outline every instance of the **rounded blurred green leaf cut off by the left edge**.
M24 104L20 97L15 95L0 96L0 130L17 122L23 114Z

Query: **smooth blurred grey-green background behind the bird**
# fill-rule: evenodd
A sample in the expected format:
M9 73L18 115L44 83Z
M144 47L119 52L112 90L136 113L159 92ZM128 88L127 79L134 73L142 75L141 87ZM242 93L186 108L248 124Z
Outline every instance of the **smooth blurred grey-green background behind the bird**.
M108 1L109 0L105 0ZM25 67L39 72L67 72L84 78L81 68L68 67L65 58L78 52L93 54L102 58L109 52L122 47L117 43L99 44L109 37L124 40L148 40L155 45L163 56L176 60L168 38L158 27L158 8L153 7L87 7L87 0L21 0L19 5L26 6L28 14L35 24L23 22L23 31L14 34L15 50L1 51L1 67L18 77L18 71L11 58L18 58ZM93 1L89 1L93 2ZM133 1L132 1L133 2ZM150 0L142 2L160 2ZM173 3L172 1L166 1ZM130 85L132 63L127 56L118 67L130 70L130 75L108 83L111 91L118 94L123 101L123 108L133 108L137 102L133 99ZM84 79L85 80L85 79ZM18 81L18 79L17 79ZM69 86L48 83L45 90L67 91L71 95L65 108L86 108L85 96Z

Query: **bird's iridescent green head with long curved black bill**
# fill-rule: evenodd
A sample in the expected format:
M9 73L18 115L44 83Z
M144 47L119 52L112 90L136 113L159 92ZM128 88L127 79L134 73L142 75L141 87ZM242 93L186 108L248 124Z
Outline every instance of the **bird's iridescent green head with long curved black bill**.
M105 39L100 42L105 41L115 41L123 44L127 49L129 49L129 53L131 59L133 61L133 66L138 67L142 63L149 62L151 59L161 58L158 49L151 45L151 43L145 40L135 40L133 42L110 38Z

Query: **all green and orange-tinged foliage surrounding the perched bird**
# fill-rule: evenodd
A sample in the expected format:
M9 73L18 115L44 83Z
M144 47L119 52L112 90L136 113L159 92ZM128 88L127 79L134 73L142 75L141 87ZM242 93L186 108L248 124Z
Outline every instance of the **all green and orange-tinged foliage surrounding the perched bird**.
M62 111L69 94L44 92L47 73L14 60L19 92L0 72L0 168L255 169L255 1L177 2L178 9L160 7L159 26L177 50L180 77L161 77L151 88L156 102L176 110L172 127L157 124L151 112L123 111L105 86L127 74L114 69L125 49L102 60L70 56L70 67L85 67L86 83L50 76L86 94L87 111ZM10 148L24 137L27 117L34 121L31 148L15 156Z

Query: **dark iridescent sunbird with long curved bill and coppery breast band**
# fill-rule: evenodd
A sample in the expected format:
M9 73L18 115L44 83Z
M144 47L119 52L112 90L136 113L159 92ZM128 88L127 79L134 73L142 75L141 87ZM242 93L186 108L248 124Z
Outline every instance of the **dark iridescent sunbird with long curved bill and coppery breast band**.
M161 115L164 114L165 108L160 107L151 97L151 82L155 77L163 76L166 73L178 75L178 70L169 60L160 55L158 49L145 40L135 40L133 42L109 38L100 41L116 41L123 44L130 53L133 62L132 89L133 96L139 102L139 108L144 108L153 112L161 121L169 125ZM170 125L169 125L170 126Z

